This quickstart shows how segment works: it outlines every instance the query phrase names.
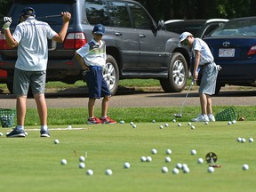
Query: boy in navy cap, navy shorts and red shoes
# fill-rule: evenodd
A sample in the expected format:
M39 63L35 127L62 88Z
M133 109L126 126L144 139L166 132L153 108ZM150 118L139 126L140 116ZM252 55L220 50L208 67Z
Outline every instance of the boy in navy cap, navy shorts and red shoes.
M94 26L92 40L75 52L76 59L85 70L85 80L89 90L87 124L116 124L116 121L107 116L108 102L111 92L102 75L102 68L106 65L106 44L102 41L105 27L101 24ZM94 116L95 100L103 97L100 119Z

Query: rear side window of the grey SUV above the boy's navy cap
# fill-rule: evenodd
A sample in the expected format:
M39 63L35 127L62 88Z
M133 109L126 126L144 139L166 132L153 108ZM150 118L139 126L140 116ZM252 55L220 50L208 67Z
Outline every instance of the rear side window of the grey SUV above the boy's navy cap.
M101 23L109 27L132 28L124 2L88 0L85 7L87 20L91 25Z

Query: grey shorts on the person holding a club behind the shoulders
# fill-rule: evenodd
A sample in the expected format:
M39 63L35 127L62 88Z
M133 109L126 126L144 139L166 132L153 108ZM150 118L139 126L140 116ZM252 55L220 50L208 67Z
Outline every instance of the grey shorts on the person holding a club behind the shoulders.
M33 94L44 94L46 71L24 71L14 69L13 93L28 95L29 85Z

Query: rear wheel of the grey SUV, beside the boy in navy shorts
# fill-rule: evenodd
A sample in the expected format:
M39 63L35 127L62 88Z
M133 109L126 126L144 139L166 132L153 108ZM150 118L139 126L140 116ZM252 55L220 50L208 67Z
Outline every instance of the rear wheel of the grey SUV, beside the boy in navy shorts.
M116 60L111 55L107 56L105 68L103 68L103 77L108 84L111 95L115 95L119 84L119 70Z

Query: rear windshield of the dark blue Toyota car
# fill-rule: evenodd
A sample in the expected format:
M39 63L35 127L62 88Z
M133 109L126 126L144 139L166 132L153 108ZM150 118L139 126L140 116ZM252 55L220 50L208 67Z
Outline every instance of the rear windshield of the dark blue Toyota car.
M256 19L231 20L213 31L211 36L256 36Z

